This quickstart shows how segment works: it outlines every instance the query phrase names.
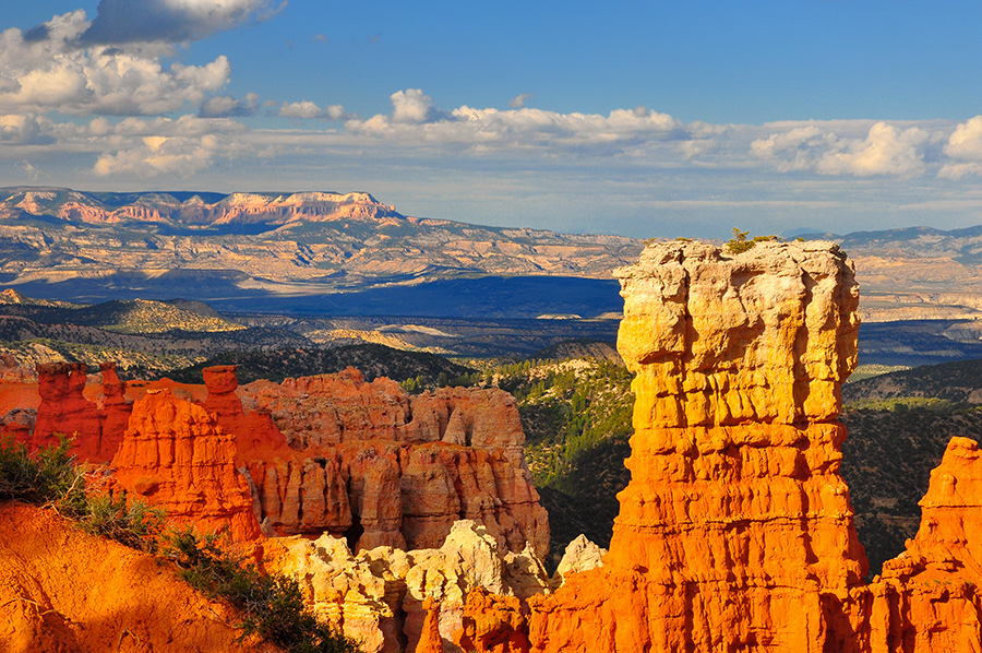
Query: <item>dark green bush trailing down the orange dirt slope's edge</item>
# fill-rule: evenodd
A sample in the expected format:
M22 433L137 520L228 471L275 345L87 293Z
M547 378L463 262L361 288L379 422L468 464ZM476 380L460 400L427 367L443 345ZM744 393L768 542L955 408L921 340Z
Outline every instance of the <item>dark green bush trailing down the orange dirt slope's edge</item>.
M264 574L243 566L214 535L188 527L170 533L164 554L175 559L181 577L195 590L224 598L246 613L246 634L260 637L290 653L356 653L355 643L310 614L292 578Z

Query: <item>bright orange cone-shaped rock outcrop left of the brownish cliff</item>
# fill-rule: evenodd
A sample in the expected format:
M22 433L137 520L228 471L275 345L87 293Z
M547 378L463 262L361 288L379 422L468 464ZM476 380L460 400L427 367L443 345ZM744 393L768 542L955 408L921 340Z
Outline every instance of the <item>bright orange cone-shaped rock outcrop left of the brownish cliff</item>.
M236 458L235 436L204 408L155 390L134 403L110 466L115 485L169 518L252 539L260 527Z

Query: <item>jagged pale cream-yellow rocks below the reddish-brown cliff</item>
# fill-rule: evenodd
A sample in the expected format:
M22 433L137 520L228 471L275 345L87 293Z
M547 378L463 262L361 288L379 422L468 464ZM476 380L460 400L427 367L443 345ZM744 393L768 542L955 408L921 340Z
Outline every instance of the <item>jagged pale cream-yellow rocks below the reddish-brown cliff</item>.
M458 652L452 637L464 626L471 590L487 587L517 602L548 585L530 549L502 550L469 520L455 523L439 548L381 546L352 555L344 539L325 534L313 542L273 541L266 549L274 551L271 565L299 580L314 612L366 653L435 651L438 639L447 653Z

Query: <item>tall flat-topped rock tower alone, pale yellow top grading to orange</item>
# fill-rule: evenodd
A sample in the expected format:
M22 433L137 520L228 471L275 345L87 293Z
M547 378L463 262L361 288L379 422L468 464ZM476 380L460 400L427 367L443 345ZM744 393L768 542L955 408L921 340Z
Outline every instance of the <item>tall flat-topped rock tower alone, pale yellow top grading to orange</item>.
M650 607L612 643L822 651L827 597L866 573L836 422L851 265L823 242L663 244L618 276L637 401L608 572L643 574Z

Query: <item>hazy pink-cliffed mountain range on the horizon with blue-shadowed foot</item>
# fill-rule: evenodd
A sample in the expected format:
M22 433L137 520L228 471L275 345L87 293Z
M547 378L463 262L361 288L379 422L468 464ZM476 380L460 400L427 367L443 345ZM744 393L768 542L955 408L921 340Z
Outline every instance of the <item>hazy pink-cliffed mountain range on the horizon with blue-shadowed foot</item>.
M857 263L866 322L982 317L982 226L812 235ZM366 192L0 189L0 284L220 310L597 317L644 242L406 216Z

